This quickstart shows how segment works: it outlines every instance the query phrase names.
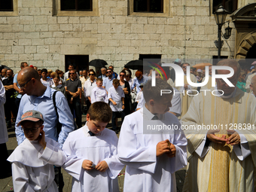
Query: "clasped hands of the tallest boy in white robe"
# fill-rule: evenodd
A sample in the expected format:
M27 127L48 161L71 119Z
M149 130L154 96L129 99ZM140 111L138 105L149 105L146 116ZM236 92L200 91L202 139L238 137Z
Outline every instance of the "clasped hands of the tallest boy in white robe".
M168 157L175 157L175 145L170 143L168 139L157 143L157 157L160 157L163 154L166 154Z

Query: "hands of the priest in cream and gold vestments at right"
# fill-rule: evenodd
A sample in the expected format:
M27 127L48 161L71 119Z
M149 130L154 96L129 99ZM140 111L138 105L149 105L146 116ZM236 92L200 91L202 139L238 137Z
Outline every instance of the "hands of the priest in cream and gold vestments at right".
M231 134L231 136L227 139L227 136L223 135L220 137L215 136L215 133L218 133L220 130L209 130L207 133L207 139L209 139L211 142L216 142L219 144L230 144L230 145L238 145L240 144L240 136L239 134L234 130L227 130L228 134Z

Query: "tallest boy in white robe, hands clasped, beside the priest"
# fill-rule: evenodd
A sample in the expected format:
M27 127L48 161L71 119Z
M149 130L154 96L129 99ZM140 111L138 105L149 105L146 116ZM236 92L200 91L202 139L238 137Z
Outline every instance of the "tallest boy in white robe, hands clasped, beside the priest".
M143 90L145 108L123 121L117 151L126 165L124 192L176 191L175 171L187 165L187 139L178 118L167 113L173 91L160 96L161 90L172 87L158 78L156 87L148 81ZM152 125L176 128L148 130Z

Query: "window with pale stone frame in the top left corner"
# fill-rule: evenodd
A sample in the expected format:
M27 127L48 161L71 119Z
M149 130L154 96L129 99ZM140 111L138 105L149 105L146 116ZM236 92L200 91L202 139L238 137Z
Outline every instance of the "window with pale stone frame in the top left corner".
M17 16L17 0L0 0L0 16Z

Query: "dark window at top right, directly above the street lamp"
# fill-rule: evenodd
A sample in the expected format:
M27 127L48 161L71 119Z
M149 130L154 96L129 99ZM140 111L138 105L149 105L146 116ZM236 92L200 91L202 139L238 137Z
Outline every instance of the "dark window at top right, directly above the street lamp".
M212 14L222 5L230 14L237 9L237 0L212 0Z

